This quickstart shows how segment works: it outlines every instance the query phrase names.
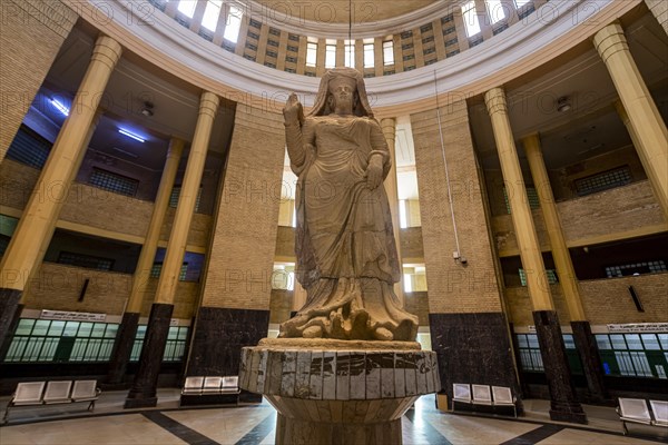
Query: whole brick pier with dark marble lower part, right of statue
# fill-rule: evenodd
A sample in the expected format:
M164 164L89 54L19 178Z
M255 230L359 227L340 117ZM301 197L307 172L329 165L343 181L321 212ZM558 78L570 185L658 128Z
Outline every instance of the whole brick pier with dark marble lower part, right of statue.
M519 395L466 101L461 99L439 111L411 115L411 127L420 189L429 323L432 348L439 356L442 389L452 397L453 383L484 383L511 387ZM465 265L452 257L458 247L448 199L445 161L450 162L452 209L461 253L468 260ZM481 365L483 357L484 366ZM518 408L521 411L520 402Z

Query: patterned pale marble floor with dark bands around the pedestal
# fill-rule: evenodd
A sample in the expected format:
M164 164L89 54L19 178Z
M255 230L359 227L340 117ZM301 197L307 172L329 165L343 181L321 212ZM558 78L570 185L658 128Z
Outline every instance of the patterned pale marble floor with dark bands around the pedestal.
M267 404L178 408L178 390L161 389L155 409L124 411L125 392L105 393L95 414L86 406L16 408L0 427L0 444L274 444L276 412ZM0 398L2 411L8 397ZM524 400L525 415L511 417L442 413L424 396L402 418L406 445L609 445L668 443L668 429L635 428L621 435L612 408L583 406L589 425L549 422L547 400ZM660 434L659 437L656 435Z

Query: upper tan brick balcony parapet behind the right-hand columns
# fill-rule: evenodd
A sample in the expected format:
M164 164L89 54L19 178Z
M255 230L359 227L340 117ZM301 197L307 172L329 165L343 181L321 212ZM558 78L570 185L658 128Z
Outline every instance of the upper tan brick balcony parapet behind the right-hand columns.
M666 229L647 180L558 202L557 208L568 245L579 245L583 240L602 243L615 239L616 234L640 235L644 229L647 233ZM548 235L538 209L533 210L533 221L541 248L547 250ZM501 256L519 255L510 215L494 217L492 231Z

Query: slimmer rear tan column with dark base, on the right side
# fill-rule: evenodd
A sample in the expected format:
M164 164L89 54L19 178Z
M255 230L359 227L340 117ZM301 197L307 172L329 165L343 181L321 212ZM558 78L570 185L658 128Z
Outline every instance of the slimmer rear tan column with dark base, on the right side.
M600 402L606 398L605 373L596 339L591 334L591 327L582 307L580 283L576 276L573 263L566 246L561 219L559 218L559 211L550 186L550 178L548 177L548 170L546 169L540 149L540 138L534 134L524 138L522 142L524 154L529 160L533 184L540 198L540 207L548 230L548 237L550 238L550 246L552 247L552 257L554 258L559 284L563 290L563 297L566 298L566 305L570 315L573 339L580 354L584 376L587 377L587 386L589 387L591 399Z

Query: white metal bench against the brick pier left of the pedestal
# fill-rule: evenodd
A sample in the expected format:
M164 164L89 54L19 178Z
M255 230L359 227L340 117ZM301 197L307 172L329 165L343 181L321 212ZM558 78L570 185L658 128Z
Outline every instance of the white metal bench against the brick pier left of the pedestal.
M180 405L238 404L239 393L238 376L186 377Z

